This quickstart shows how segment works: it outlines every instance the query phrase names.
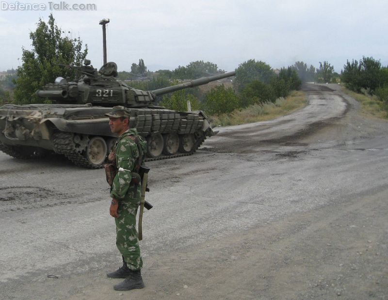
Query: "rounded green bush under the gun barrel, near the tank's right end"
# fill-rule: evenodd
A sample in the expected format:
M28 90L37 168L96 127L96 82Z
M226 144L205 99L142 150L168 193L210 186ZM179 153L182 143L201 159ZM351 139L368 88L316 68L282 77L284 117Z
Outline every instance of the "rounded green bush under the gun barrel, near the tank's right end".
M224 84L217 85L206 94L206 111L211 115L231 113L240 107L240 102L232 88Z

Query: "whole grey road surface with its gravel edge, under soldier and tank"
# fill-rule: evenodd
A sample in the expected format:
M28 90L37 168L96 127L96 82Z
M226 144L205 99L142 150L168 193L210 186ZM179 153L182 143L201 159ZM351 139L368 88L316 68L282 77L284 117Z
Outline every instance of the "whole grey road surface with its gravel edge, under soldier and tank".
M149 162L146 288L120 265L103 170L0 153L0 299L388 299L388 122L335 84Z

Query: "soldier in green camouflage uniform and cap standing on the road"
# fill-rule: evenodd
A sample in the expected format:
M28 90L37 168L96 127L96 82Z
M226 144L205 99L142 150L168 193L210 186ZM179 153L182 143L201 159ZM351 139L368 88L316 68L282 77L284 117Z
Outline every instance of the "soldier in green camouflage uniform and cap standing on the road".
M115 290L143 288L144 283L140 273L143 260L136 231L136 213L141 200L141 185L132 183L131 179L136 175L133 172L135 162L141 154L146 153L146 142L138 135L136 128L129 129L129 114L123 106L114 106L112 112L106 116L109 117L111 131L118 136L115 144L116 167L124 169L117 172L110 192L112 197L110 214L115 218L116 246L123 256L123 267L108 273L107 276L125 278L123 282L114 285ZM140 151L139 148L141 148Z

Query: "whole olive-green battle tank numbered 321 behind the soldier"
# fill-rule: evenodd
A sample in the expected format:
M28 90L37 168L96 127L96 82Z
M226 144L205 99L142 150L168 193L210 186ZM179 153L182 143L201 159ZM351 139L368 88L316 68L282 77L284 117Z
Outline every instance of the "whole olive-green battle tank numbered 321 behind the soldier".
M104 114L122 105L130 114L130 127L146 138L146 160L190 155L214 134L209 118L203 111L180 112L158 106L156 97L235 75L228 72L142 91L116 79L114 62L98 71L89 60L81 67L63 67L77 68L82 75L77 81L58 77L36 92L52 104L0 106L1 151L22 159L54 151L77 166L100 168L116 139Z

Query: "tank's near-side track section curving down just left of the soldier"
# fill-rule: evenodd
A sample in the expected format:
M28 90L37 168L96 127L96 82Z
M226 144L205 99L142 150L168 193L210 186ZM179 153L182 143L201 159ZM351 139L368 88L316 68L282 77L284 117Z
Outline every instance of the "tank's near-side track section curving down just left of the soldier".
M99 169L102 166L91 164L82 152L76 150L76 144L73 141L72 133L54 133L52 137L54 151L63 154L67 159L72 161L76 166L86 167L89 169Z

